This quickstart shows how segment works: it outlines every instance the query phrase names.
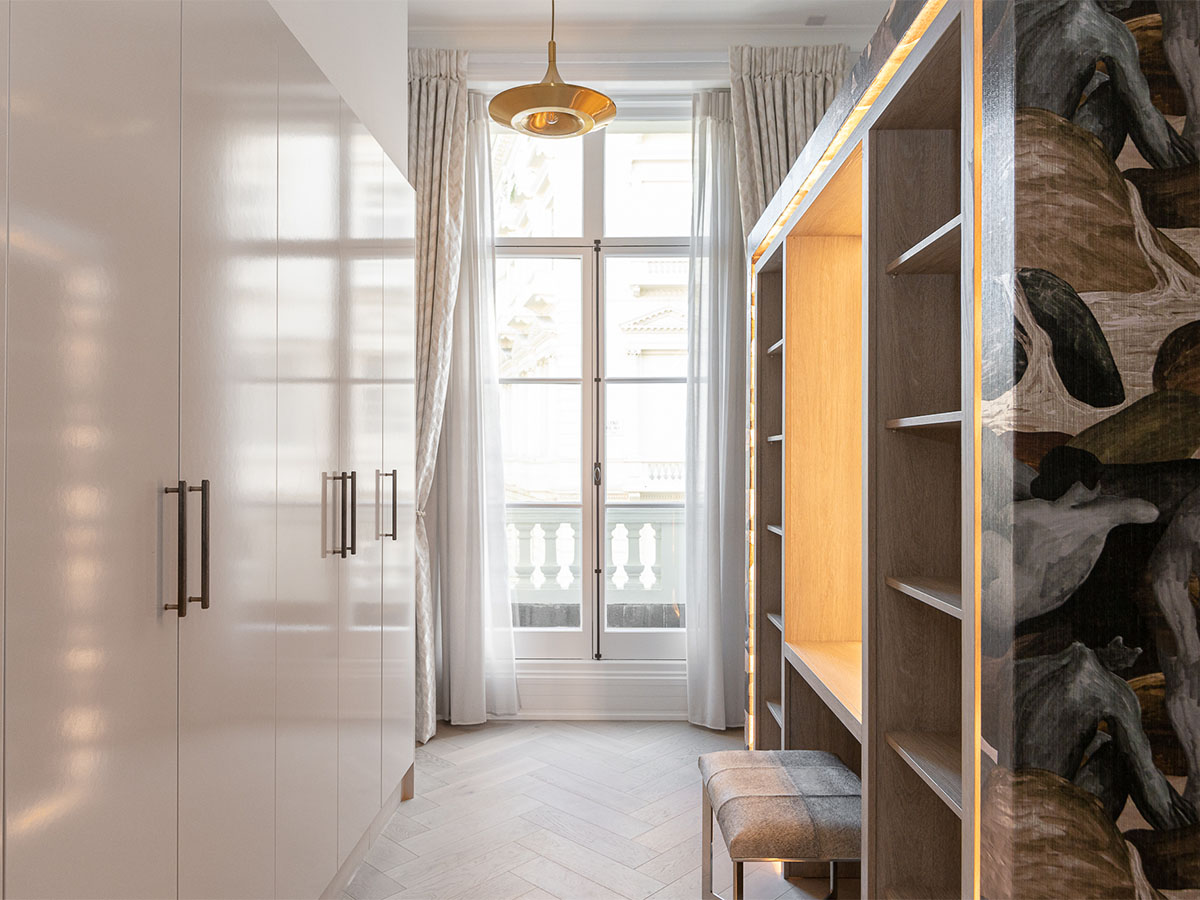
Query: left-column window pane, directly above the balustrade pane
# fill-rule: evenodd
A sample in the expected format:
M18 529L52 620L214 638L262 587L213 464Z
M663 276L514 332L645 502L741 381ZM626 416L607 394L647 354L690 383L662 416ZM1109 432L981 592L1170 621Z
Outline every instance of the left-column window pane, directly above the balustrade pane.
M580 502L581 401L577 384L500 385L506 502Z

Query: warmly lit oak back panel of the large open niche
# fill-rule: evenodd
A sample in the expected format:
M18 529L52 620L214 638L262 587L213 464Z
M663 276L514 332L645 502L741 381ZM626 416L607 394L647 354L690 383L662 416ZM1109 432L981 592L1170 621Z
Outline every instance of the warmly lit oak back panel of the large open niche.
M790 642L860 642L863 635L862 173L856 150L786 242L784 624Z

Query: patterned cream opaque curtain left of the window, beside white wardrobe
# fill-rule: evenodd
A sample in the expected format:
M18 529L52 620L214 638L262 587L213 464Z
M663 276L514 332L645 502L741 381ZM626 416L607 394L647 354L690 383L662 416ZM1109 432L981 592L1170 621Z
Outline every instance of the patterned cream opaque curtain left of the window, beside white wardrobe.
M433 487L462 252L467 53L408 56L408 166L416 191L416 739L437 730L436 606L425 506Z

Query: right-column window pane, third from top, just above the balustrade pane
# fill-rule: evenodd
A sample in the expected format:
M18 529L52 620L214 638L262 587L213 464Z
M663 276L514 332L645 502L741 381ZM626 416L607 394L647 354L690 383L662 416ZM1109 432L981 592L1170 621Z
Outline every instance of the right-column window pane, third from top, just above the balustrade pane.
M610 384L605 397L608 503L683 503L686 385Z

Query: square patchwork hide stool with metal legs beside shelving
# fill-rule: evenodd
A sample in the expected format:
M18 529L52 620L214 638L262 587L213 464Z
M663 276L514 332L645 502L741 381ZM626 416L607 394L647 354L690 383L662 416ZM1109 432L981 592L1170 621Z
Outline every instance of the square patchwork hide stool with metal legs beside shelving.
M724 750L700 757L703 776L701 895L713 893L713 812L733 860L733 900L743 900L743 863L838 863L862 853L858 775L820 750Z

